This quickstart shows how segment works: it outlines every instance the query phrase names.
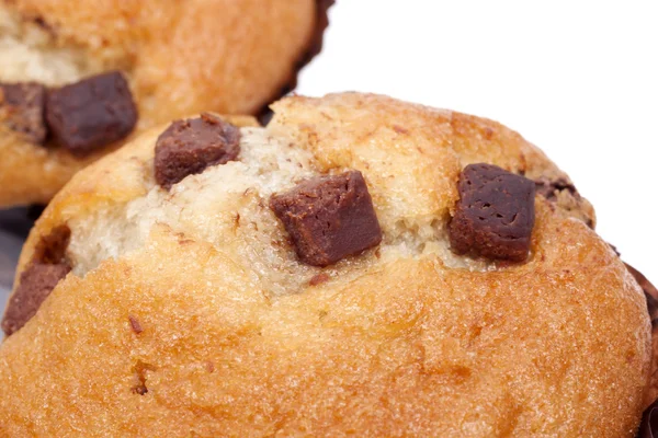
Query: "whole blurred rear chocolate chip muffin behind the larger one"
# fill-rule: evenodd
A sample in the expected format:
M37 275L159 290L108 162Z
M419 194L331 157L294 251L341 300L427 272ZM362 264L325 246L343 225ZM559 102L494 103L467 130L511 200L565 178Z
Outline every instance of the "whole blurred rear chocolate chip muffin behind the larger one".
M319 51L331 3L0 1L0 208L47 203L172 118L259 113Z

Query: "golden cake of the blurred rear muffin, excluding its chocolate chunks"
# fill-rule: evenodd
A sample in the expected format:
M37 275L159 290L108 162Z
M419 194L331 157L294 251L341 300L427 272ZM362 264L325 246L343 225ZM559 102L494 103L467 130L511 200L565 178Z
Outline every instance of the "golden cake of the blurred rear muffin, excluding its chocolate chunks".
M256 114L319 50L324 3L3 1L0 82L60 87L121 70L137 104L135 134L202 111ZM48 201L78 170L122 143L76 159L26 141L0 118L0 207Z

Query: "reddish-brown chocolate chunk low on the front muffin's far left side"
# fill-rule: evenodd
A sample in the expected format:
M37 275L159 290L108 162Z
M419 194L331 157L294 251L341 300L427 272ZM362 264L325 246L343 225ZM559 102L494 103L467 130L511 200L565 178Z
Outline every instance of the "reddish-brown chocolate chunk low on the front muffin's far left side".
M55 286L71 270L64 264L32 262L21 274L21 283L7 304L2 330L10 336L21 328L50 295Z

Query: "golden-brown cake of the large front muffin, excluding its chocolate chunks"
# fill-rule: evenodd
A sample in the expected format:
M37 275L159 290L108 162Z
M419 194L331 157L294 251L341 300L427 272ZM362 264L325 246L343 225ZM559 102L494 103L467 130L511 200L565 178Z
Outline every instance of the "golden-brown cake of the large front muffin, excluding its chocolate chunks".
M152 174L161 126L54 199L19 272L63 223L72 272L0 346L0 435L633 436L649 318L590 205L537 195L526 263L450 251L462 169L566 177L540 150L384 96L273 110L241 128L236 161L169 192ZM349 170L382 243L299 263L270 196Z

